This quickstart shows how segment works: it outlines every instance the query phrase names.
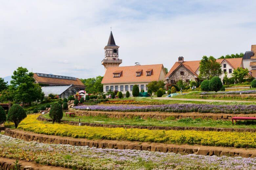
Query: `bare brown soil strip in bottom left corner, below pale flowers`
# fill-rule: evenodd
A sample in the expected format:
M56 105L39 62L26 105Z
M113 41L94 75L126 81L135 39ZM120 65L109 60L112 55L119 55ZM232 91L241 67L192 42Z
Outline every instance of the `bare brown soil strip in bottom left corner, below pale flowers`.
M7 159L7 158L2 158L0 157L0 162L1 164L3 162L6 162L8 164L14 164L13 162L15 162L16 160L15 159ZM23 160L19 160L19 163L21 164L21 166L25 167L31 167L33 168L34 170L49 170L49 169L52 169L52 170L70 170L68 168L62 168L62 167L56 167L56 166L44 166L44 165L39 165L39 164L36 164L34 162L29 162L29 161L23 161ZM29 168L29 169L31 169Z

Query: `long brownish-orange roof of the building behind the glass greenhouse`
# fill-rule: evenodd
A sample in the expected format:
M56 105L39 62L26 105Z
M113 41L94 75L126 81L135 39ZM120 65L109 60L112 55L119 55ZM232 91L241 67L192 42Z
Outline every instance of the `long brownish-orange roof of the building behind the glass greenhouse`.
M49 85L71 85L77 87L84 87L84 84L79 78L76 78L76 80L69 80L69 79L61 79L61 78L50 78L50 77L41 77L37 76L36 73L34 73L34 79L41 84L49 84Z

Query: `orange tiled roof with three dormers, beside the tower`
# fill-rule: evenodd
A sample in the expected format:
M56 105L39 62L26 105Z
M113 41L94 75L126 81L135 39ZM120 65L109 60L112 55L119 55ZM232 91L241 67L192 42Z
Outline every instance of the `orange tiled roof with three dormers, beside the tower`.
M113 77L113 72L117 69L122 70L122 74L120 77ZM146 70L148 69L152 69L151 76L147 76ZM160 72L162 69L163 69L162 64L108 67L101 83L106 84L106 83L158 81L160 77ZM141 75L136 76L136 72L139 70L142 70Z

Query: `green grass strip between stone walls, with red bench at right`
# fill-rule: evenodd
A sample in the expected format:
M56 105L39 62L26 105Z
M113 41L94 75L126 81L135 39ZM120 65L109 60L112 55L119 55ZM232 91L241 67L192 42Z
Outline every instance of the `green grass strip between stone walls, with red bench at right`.
M50 119L49 114L43 115L43 117ZM100 124L112 124L112 125L136 125L136 126L182 126L182 127L233 127L233 128L256 128L256 121L238 121L237 125L232 125L231 121L223 120L205 120L205 119L191 119L184 118L175 120L174 117L168 117L165 120L156 119L141 119L140 117L135 117L132 119L128 118L107 118L106 116L76 116L76 117L66 117L63 113L62 120L66 121L80 121L86 123L100 123Z

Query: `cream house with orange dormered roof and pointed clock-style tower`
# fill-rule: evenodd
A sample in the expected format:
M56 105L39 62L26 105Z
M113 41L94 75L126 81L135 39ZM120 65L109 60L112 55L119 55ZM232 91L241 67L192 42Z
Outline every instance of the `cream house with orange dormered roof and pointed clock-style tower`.
M135 84L139 86L139 91L147 92L148 83L164 80L166 73L163 64L140 65L137 63L134 66L119 67L122 60L119 59L118 48L111 31L108 44L104 48L105 59L101 61L105 68L105 75L101 81L103 92L119 91L125 96L129 91L132 96Z

